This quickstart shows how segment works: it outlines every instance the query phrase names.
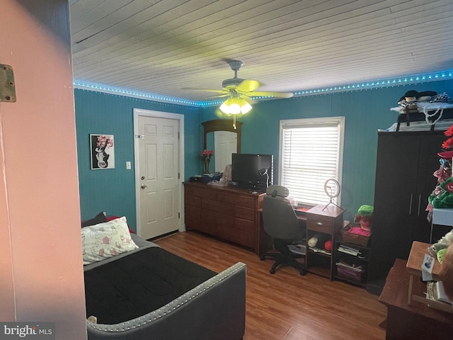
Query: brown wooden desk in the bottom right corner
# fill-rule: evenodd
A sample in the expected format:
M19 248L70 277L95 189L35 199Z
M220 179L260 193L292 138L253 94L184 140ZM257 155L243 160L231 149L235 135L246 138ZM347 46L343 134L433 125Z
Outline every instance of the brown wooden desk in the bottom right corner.
M379 302L387 307L386 339L451 340L452 314L435 310L422 303L408 304L410 274L406 261L396 259L386 278ZM425 284L413 280L413 292L422 293Z

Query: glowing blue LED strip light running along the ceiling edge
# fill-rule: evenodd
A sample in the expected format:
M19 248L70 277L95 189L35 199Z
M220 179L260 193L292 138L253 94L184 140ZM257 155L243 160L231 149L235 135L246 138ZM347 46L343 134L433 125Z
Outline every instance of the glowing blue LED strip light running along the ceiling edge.
M400 77L400 78L395 78L395 79L363 81L363 82L357 82L356 84L328 86L323 89L295 91L294 97L316 96L319 94L333 94L336 92L344 92L344 91L360 91L360 90L367 90L367 89L378 89L381 87L401 86L401 85L423 83L423 82L428 82L428 81L440 81L440 80L449 80L449 79L453 79L453 71L438 72L438 73L434 73L434 74L420 74L418 76ZM199 108L218 106L223 103L223 101L189 101L187 99L173 98L173 97L168 97L168 96L159 96L156 94L146 94L143 92L118 89L115 87L110 87L110 86L105 86L105 85L100 85L100 84L91 84L91 83L86 83L84 81L77 81L77 80L74 80L74 88L87 89L87 90L98 91L98 92L105 92L108 94L118 94L121 96L130 96L130 97L135 97L135 98L149 99L151 101L176 103L176 104L185 105L185 106L196 106ZM266 99L273 99L273 97L253 97L253 99L258 100L258 101L260 101L260 100L263 101Z

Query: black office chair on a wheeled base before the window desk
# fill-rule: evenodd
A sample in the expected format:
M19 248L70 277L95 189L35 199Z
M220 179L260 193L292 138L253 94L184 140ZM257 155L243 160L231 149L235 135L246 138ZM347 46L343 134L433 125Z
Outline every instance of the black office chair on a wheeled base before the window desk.
M299 270L300 275L306 274L305 263L297 261L304 257L303 254L296 254L289 250L292 244L301 244L306 236L305 225L299 224L297 215L294 212L289 200L286 197L289 191L284 186L269 186L266 196L263 199L263 227L270 237L274 239L275 251L268 251L260 256L261 260L266 258L275 259L270 268L270 273L281 264L289 264Z

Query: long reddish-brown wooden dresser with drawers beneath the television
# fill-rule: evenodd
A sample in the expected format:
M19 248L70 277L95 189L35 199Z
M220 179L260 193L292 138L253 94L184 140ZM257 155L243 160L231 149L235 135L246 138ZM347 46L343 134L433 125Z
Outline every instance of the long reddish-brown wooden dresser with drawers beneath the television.
M185 182L185 229L245 246L259 256L269 244L258 214L264 196L241 188Z

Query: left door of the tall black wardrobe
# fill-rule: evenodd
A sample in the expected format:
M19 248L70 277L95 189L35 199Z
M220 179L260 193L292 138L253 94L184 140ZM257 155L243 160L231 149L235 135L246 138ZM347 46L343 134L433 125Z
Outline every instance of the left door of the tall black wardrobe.
M397 257L411 249L420 137L379 133L367 290L380 294ZM407 255L406 255L407 258Z

